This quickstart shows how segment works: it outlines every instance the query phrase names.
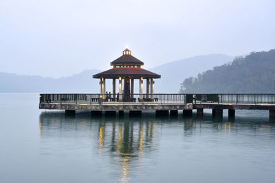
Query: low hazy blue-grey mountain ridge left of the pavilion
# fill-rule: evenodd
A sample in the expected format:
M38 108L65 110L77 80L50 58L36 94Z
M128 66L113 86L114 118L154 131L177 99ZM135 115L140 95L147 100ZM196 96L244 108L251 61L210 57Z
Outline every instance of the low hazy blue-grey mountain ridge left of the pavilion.
M59 79L0 73L0 93L98 93L98 80L92 75L99 72L87 70Z

